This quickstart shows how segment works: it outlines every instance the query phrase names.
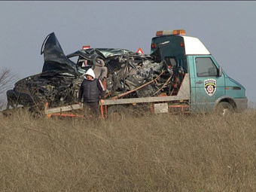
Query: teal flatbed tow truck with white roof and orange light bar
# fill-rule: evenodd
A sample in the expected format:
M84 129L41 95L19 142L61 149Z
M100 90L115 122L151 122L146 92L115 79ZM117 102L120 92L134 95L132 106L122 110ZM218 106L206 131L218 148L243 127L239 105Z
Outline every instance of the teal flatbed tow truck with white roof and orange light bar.
M151 40L151 56L157 62L164 60L172 67L172 77L157 90L163 91L171 83L170 92L157 96L123 98L148 84L157 84L158 77L154 78L134 90L105 99L101 105L102 117L107 117L113 111L126 110L127 107L142 107L155 114L178 109L182 113L219 110L224 115L230 111L244 111L248 107L245 87L224 72L199 38L186 35L184 29L157 31ZM47 117L83 117L81 114L67 113L78 109L81 109L78 104L57 108L47 108L45 105L44 113Z

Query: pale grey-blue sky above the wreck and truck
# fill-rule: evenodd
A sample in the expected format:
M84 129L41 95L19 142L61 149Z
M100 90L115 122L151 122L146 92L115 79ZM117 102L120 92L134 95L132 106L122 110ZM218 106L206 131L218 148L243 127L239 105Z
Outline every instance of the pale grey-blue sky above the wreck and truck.
M44 38L55 32L64 53L83 45L150 53L157 30L200 38L224 72L256 102L256 2L0 2L0 69L19 79L41 72Z

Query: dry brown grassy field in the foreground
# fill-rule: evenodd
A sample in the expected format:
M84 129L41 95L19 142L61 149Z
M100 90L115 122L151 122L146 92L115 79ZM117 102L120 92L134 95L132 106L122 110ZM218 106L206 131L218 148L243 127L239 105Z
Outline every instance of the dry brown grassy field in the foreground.
M0 120L1 191L256 191L256 111Z

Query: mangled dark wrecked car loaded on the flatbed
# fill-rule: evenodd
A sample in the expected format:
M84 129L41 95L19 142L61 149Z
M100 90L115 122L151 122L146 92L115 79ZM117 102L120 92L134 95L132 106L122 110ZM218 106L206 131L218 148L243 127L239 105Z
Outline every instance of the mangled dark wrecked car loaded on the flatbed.
M99 48L78 50L66 56L56 35L51 33L42 44L41 54L42 72L17 81L14 89L8 90L8 108L23 105L42 109L46 102L52 107L78 102L79 87L89 68L99 71L97 77L102 78L107 90L105 98L120 96L150 81L151 84L123 97L157 96L163 92L168 95L172 89L170 77L175 61L161 61L157 51L144 55L125 49ZM158 80L154 81L155 78Z

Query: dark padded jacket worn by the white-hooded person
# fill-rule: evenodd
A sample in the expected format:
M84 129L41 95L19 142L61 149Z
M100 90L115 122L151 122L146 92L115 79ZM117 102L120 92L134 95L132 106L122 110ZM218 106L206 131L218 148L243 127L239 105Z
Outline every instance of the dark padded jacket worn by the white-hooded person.
M84 102L99 102L100 97L103 99L105 88L102 82L95 78L93 81L84 79L81 84L78 101L81 102L82 97Z

